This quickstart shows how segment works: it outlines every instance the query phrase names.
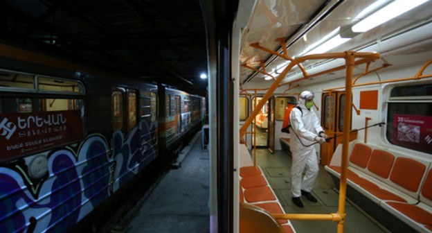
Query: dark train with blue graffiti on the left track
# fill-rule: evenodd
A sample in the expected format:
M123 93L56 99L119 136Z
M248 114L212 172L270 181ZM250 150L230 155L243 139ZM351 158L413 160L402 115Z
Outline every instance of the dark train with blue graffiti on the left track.
M0 47L0 232L67 232L123 202L206 114L201 96Z

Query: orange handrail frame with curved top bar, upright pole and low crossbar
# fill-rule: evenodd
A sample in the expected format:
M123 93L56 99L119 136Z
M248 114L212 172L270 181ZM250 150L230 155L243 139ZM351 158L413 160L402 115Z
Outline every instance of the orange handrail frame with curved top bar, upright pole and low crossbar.
M255 48L262 49L261 46L258 46L258 44L253 44ZM283 48L284 46L282 46ZM269 51L270 53L273 53L274 51L270 51L268 49L262 49L264 51ZM242 128L240 128L240 141L242 141L242 138L244 137L246 133L246 129L251 125L253 119L258 114L259 110L262 108L264 103L266 103L269 98L273 95L273 92L276 90L277 87L280 87L281 85L291 85L291 83L299 82L300 80L305 80L307 78L310 78L314 75L309 75L303 69L301 66L302 62L305 62L306 60L322 60L322 59L336 59L336 58L343 58L345 60L345 65L342 65L340 67L336 67L334 69L329 69L327 71L320 72L319 74L327 74L328 72L334 71L335 69L346 69L346 79L345 79L345 98L346 99L352 99L352 73L353 73L353 67L358 64L370 64L370 62L374 62L379 58L379 53L366 53L366 52L355 52L355 51L345 51L344 53L325 53L325 54L314 54L314 55L305 55L300 58L289 58L287 57L286 51L284 53L273 53L275 55L278 55L285 60L289 60L290 63L285 69L279 74L279 76L274 80L273 84L269 87L266 94L262 97L260 103L255 106L255 109L249 115L249 117L246 119L244 125ZM356 60L356 58L359 58L359 60ZM283 78L288 74L288 72L294 67L298 65L300 69L303 72L303 78L298 78L297 80L291 80L287 83L282 83ZM367 65L369 67L369 65ZM351 111L350 108L352 106L352 103L350 101L345 101L344 110L345 115L343 121L347 123L349 126L351 124ZM330 214L273 214L273 216L276 219L301 219L301 220L330 220L330 221L336 221L338 222L337 232L342 233L343 232L343 226L345 225L345 200L346 200L346 186L347 186L347 167L348 167L348 144L349 144L349 138L350 137L350 128L344 127L343 128L343 148L342 148L342 159L341 159L341 177L340 177L340 187L339 187L339 205L338 205L338 212L336 213L330 213Z

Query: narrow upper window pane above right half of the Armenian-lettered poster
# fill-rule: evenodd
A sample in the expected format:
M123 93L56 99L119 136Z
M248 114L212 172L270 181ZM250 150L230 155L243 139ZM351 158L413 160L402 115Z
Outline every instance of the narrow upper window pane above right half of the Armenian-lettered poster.
M37 79L38 89L42 91L53 91L53 92L74 92L82 93L82 86L78 82L63 80L60 78L45 78L38 77Z

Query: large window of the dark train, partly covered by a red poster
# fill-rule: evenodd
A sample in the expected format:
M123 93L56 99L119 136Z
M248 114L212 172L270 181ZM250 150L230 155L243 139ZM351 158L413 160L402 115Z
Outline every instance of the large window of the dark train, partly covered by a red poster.
M82 112L78 98L1 97L0 160L82 139Z

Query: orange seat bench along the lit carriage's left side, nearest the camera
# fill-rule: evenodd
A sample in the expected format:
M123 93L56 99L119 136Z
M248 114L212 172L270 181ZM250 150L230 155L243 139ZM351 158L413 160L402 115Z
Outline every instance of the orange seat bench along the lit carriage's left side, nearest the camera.
M259 166L240 168L240 202L255 205L265 209L270 214L285 214ZM278 222L285 232L295 232L289 221L278 220Z

